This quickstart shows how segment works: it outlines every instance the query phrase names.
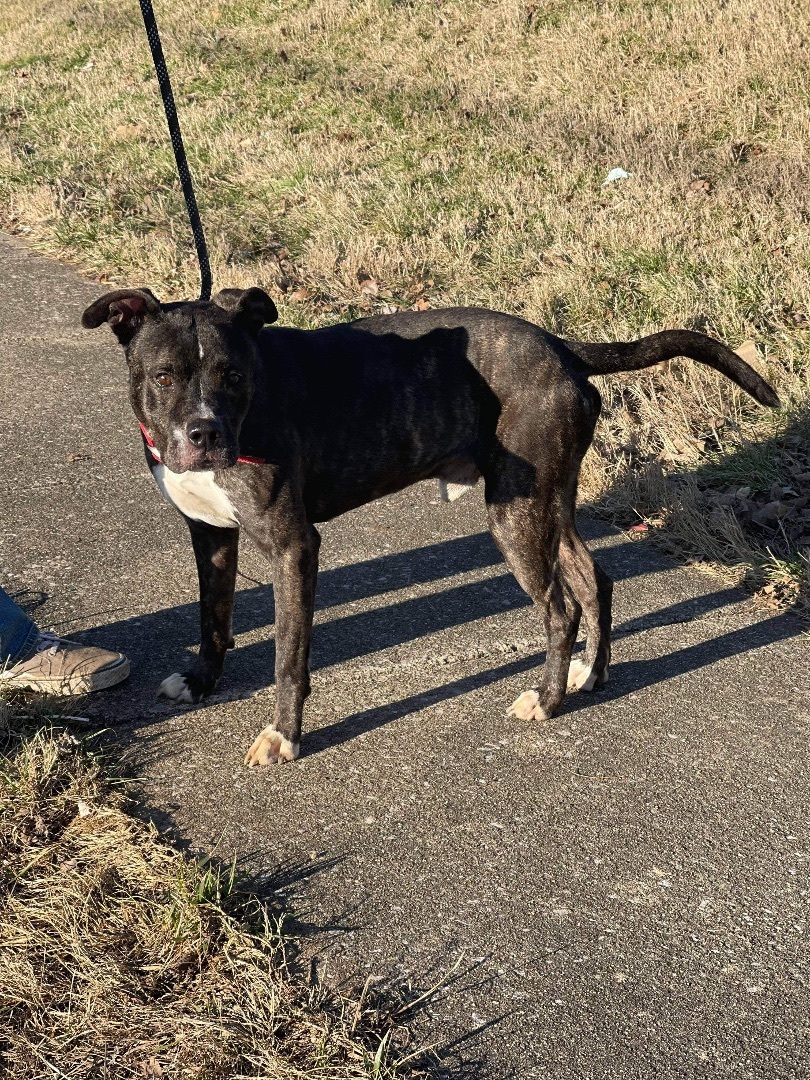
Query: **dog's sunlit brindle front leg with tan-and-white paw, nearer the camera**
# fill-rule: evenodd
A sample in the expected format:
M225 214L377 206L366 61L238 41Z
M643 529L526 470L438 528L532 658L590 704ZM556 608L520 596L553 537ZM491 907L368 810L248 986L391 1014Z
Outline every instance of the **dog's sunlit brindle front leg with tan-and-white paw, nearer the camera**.
M294 538L272 546L275 715L248 750L245 765L272 765L298 757L303 703L310 692L309 649L320 545L318 530L307 524Z

